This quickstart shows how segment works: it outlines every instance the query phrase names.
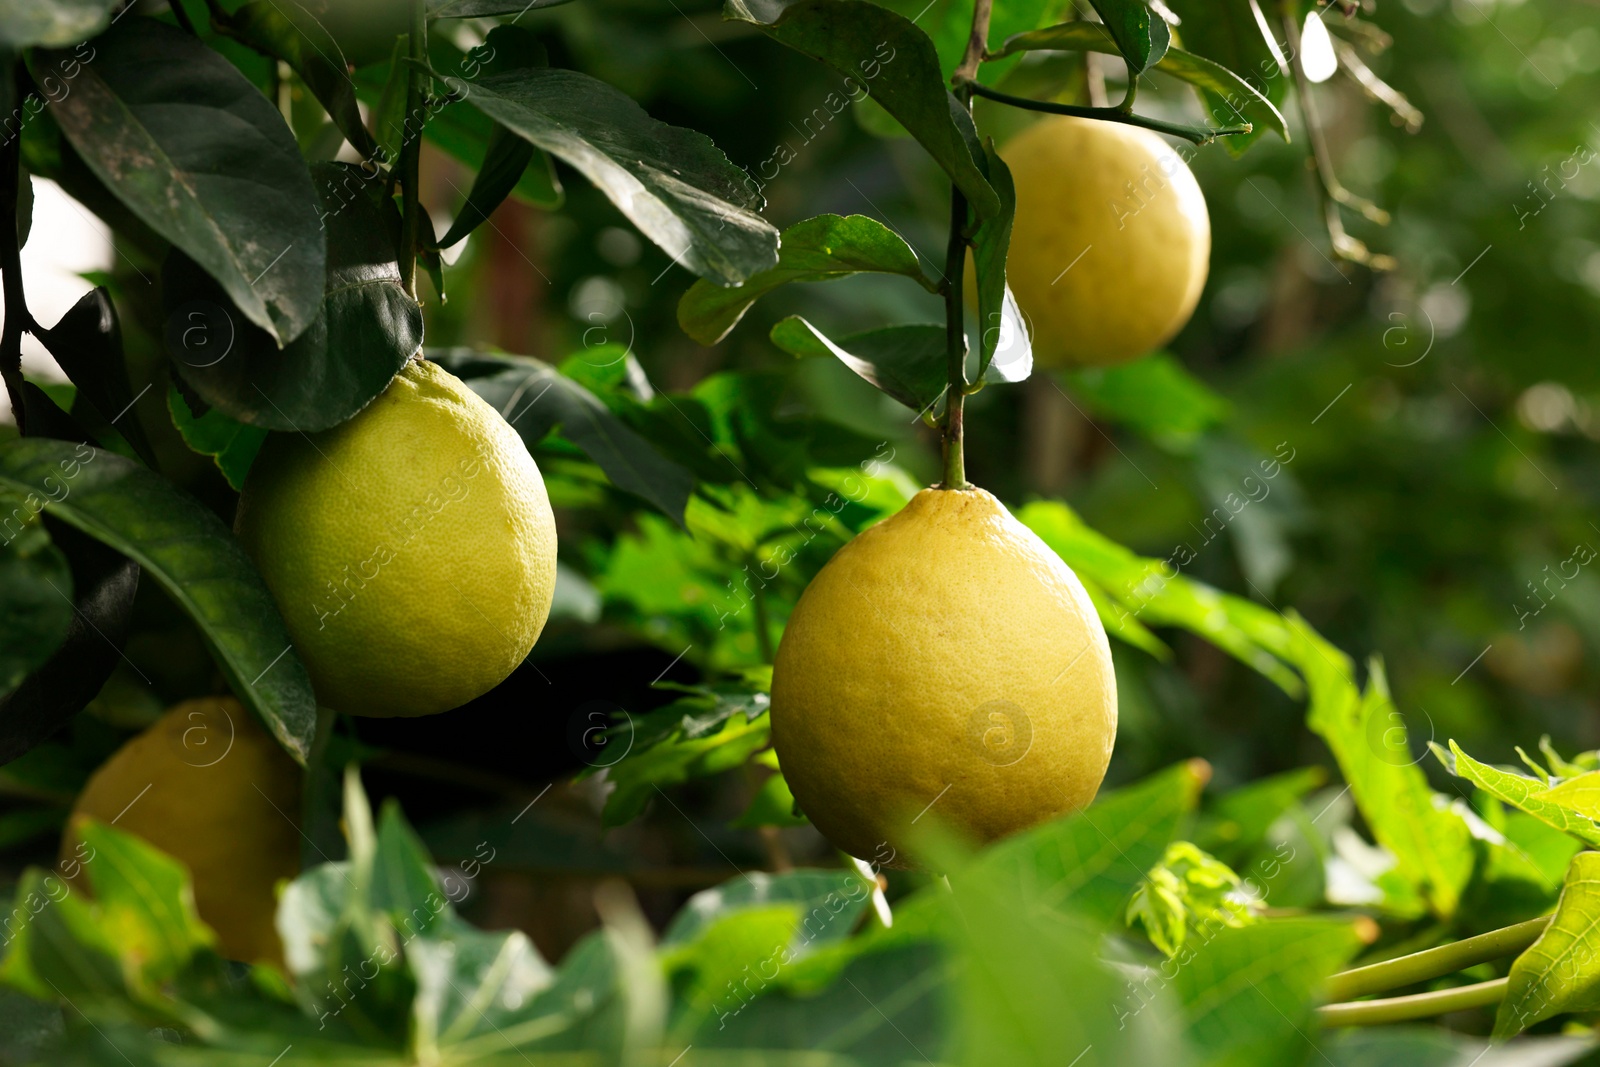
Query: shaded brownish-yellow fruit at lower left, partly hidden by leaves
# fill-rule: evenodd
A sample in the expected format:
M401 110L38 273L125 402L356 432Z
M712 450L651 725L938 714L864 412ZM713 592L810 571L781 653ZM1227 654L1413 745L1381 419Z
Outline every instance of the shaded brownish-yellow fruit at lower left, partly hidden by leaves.
M222 955L278 961L275 886L299 873L299 768L238 701L186 701L94 771L72 806L62 862L94 865L78 853L80 816L115 821L189 867Z

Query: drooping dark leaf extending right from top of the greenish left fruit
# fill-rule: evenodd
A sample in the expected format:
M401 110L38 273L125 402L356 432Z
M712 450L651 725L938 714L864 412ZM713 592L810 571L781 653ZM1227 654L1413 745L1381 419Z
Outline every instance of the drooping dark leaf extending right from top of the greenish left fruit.
M582 448L616 488L683 523L694 478L664 458L579 382L528 355L472 349L429 352L493 405L531 451L554 427Z

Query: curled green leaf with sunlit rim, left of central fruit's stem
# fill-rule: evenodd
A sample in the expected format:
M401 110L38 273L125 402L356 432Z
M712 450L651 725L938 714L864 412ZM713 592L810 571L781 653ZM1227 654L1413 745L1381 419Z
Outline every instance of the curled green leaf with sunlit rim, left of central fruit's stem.
M827 282L862 272L899 274L933 290L917 253L890 227L864 214L818 214L782 232L776 267L731 288L704 280L691 285L678 301L678 325L701 344L717 344L755 301L781 285Z

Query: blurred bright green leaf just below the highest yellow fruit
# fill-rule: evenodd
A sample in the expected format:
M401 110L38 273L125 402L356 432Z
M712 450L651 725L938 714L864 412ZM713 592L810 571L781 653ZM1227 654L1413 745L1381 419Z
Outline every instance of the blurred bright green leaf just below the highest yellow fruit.
M1178 450L1187 450L1232 413L1226 398L1166 352L1122 366L1066 371L1064 378L1091 413Z

